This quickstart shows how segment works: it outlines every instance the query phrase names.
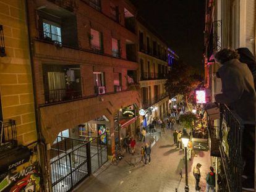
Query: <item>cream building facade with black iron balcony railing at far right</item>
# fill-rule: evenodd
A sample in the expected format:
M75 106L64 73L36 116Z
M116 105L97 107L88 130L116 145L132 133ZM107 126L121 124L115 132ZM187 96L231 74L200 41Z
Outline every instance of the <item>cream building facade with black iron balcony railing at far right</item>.
M205 14L205 88L208 101L221 93L216 77L220 65L213 55L222 48L249 48L255 56L255 1L206 1ZM211 112L210 112L211 113ZM246 126L226 106L208 114L211 136L211 159L219 179L216 191L242 191L242 131ZM255 123L255 122L254 122ZM252 125L255 127L255 125ZM217 182L216 182L217 183Z

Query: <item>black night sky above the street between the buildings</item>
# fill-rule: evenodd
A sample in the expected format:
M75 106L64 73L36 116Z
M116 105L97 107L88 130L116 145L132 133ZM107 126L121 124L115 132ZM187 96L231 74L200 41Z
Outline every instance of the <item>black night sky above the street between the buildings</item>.
M204 0L131 0L139 15L197 72L203 72Z

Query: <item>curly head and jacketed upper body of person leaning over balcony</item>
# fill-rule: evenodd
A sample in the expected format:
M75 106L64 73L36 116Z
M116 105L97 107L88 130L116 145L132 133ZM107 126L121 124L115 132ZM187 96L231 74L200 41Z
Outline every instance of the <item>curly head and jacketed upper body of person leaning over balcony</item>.
M239 54L232 49L222 49L215 54L215 60L222 65L218 69L222 93L215 95L215 101L227 104L245 123L255 122L254 78L238 58Z

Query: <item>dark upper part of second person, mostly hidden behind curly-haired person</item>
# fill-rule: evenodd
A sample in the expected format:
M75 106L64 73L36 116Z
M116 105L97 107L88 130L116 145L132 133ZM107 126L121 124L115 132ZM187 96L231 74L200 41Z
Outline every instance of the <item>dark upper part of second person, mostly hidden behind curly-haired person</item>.
M256 62L255 57L248 48L238 48L236 51L239 54L239 61L247 64L254 77L254 86L256 86Z

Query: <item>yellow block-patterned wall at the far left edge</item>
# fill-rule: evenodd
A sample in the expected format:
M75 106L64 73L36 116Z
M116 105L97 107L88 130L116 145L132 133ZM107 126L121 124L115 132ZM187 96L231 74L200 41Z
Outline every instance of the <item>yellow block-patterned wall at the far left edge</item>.
M14 119L20 144L36 140L28 29L23 0L0 0L5 57L0 57L0 94L4 120Z

